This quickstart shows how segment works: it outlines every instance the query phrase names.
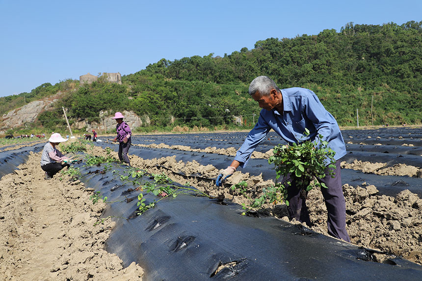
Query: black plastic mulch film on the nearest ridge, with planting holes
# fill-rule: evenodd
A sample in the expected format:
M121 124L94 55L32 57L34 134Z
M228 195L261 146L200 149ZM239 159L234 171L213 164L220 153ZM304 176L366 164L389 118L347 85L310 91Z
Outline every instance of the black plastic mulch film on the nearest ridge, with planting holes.
M107 196L107 201L123 201L107 204L102 217L127 218L116 219L106 250L117 254L124 266L139 263L145 280L420 280L422 276L422 266L402 258L374 262L369 249L276 218L242 216L239 205L205 197L165 198L136 216L140 191L120 180L128 175L127 169L113 167L99 173L102 169L81 168L81 181ZM145 194L144 198L148 204L160 197Z

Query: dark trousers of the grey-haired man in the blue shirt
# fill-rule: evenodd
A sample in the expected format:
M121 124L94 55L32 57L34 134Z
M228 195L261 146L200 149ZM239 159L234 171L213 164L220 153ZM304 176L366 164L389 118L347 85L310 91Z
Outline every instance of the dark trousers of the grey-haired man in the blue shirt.
M334 175L334 178L331 178L328 171L329 168L325 170L325 178L318 179L319 182L324 182L328 187L321 187L322 196L324 197L325 206L327 207L328 212L328 233L331 236L350 242L346 230L346 203L344 201L342 188L340 160L337 160L336 162L336 169L334 169L336 174ZM283 179L283 181L291 181L290 175ZM290 217L311 226L306 199L300 196L300 190L296 187L294 182L291 182L287 188L287 200L289 201L288 210Z

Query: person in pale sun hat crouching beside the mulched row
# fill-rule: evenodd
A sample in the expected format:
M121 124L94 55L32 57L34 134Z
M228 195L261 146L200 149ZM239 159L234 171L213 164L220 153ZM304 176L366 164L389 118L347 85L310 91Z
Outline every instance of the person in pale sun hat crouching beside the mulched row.
M43 153L41 154L41 169L45 171L45 179L52 179L64 167L69 167L67 163L69 158L64 156L56 146L65 142L67 139L62 138L59 133L53 133L49 138L49 142L44 146ZM60 162L63 161L63 164Z

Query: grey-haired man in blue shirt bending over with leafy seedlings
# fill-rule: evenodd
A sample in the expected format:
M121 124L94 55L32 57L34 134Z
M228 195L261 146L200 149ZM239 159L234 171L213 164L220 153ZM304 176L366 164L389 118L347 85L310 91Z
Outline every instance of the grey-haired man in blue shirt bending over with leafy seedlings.
M328 147L336 152L336 169L334 178L329 174L330 168L325 169L325 177L317 179L324 182L328 188L321 188L325 199L328 218L328 233L344 241L350 242L346 231L346 204L344 201L342 178L340 175L340 158L346 154L342 133L339 125L319 101L317 95L304 88L289 88L280 90L275 82L266 76L256 77L249 85L249 95L259 103L261 110L258 123L249 132L240 149L237 151L233 162L217 176L215 184L221 186L222 182L233 175L238 166L244 168L252 152L258 144L265 139L268 132L273 129L289 145L299 144L301 141L314 141L318 135L328 142ZM304 134L305 128L310 134ZM327 164L328 165L328 164ZM283 181L290 181L286 177ZM306 198L300 195L295 182L287 187L288 211L290 218L305 222L309 226L311 220Z

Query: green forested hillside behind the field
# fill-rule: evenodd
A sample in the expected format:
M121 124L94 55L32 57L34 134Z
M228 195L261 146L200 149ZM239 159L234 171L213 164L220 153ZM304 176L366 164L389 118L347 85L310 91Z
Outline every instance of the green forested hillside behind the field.
M356 109L360 125L421 124L422 21L348 23L340 32L325 29L317 35L268 38L252 50L242 48L224 57L211 53L174 61L163 58L123 76L123 85L99 81L79 87L75 81L71 87L72 81L62 81L43 84L32 96L76 89L67 90L56 111L65 106L74 119L126 109L148 115L157 127L168 126L172 117L173 126L210 127L231 123L232 115L252 122L260 108L247 88L259 75L273 78L280 88L312 89L341 126L356 125ZM19 105L16 101L22 97L0 98L1 113L12 102ZM39 119L52 114L46 112Z

